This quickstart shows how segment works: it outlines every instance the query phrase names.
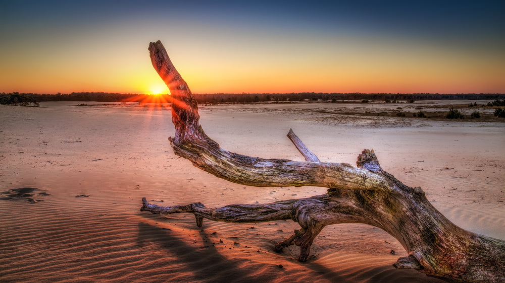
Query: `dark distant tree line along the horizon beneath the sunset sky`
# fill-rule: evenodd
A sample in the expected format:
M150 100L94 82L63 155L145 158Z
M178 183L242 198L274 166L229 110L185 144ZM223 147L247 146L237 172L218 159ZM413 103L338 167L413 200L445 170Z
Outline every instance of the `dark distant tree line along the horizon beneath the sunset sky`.
M42 101L96 101L96 102L138 102L142 103L170 103L170 95L156 96L147 94L121 94L106 92L72 92L68 94L35 94L35 93L2 93L0 94L0 104L38 106ZM255 102L311 102L322 101L339 103L346 101L373 102L384 101L385 103L396 103L399 101L415 100L441 100L441 99L472 99L489 100L503 99L505 94L439 94L439 93L262 93L262 94L195 94L196 101L200 104L223 104L223 103L255 103Z

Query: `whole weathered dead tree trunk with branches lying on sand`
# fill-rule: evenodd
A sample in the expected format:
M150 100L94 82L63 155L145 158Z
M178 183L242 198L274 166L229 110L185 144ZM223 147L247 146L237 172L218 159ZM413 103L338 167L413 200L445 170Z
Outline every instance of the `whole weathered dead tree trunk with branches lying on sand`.
M262 159L230 153L208 137L187 84L173 66L160 41L150 43L153 66L172 94L176 133L170 137L175 154L194 166L232 182L252 186L321 186L323 195L268 204L233 204L207 208L201 203L158 206L142 199L141 210L154 214L192 213L198 227L203 219L254 223L291 219L300 229L275 245L277 251L300 246L300 261L327 225L364 223L396 238L409 256L397 268L414 268L454 281L505 281L505 241L475 234L451 223L426 198L420 187L404 185L385 172L373 151L364 150L357 167L323 163L290 130L306 162Z

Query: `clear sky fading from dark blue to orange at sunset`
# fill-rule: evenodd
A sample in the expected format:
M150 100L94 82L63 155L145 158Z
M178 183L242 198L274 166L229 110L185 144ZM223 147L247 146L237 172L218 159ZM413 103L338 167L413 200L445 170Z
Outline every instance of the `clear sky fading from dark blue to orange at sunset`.
M505 1L0 0L0 92L505 93Z

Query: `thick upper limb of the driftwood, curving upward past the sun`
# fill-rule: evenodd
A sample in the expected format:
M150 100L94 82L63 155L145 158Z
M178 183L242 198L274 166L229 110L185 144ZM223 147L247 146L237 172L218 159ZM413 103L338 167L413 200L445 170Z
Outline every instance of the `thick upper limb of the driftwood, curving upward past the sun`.
M262 159L228 152L207 136L199 124L198 106L186 82L160 41L149 44L151 62L172 95L174 153L194 166L231 182L251 186L320 186L381 189L385 179L368 170L339 163Z

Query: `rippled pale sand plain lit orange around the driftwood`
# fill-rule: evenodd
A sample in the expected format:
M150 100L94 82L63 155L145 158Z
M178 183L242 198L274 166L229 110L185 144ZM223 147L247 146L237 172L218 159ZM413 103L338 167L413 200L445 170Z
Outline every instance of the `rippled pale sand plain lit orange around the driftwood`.
M455 102L417 103L403 111L441 103ZM326 189L248 187L193 167L170 148L168 107L77 104L0 106L2 282L440 281L392 267L406 252L367 225L326 227L311 258L300 263L297 247L273 252L276 241L298 229L291 221L205 220L199 230L192 215L140 212L143 196L160 205L201 201L213 207ZM245 155L303 160L286 137L289 128L321 161L356 164L363 149L374 149L386 171L421 186L451 221L505 239L505 124L348 114L395 108L251 104L200 106L199 112L209 136ZM37 190L10 191L24 187Z

